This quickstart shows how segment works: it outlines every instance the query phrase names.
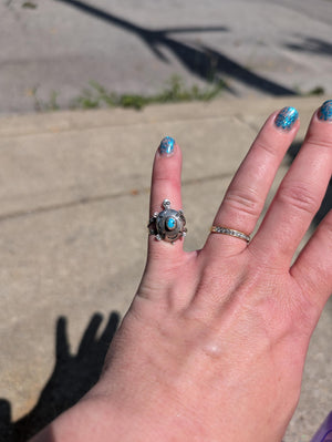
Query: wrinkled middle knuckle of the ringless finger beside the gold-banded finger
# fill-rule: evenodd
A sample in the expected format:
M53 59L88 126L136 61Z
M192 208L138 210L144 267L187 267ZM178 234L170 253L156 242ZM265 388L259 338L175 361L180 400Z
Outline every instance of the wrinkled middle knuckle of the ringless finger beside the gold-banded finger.
M319 201L314 197L309 186L304 184L293 184L281 187L278 194L281 203L291 205L301 212L314 214L319 208Z

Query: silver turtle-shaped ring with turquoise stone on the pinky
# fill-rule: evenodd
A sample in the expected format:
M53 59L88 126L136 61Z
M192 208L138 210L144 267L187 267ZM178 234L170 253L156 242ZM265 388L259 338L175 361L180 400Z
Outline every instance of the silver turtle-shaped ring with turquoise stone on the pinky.
M149 218L147 228L151 235L157 240L164 240L174 244L177 239L186 236L186 218L183 210L170 208L170 201L163 201L164 210L155 212Z

